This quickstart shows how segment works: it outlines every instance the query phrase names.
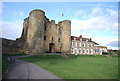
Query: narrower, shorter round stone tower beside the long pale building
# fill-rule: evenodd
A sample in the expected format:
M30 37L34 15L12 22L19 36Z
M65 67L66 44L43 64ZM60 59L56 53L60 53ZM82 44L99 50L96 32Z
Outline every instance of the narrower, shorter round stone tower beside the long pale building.
M71 46L71 21L69 20L62 21L61 27L62 27L61 36L62 52L69 53Z

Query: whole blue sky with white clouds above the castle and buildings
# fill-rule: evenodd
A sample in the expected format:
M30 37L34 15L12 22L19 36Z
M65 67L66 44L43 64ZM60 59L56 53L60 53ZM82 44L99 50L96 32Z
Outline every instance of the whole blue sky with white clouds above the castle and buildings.
M71 20L72 36L82 35L108 49L118 49L118 2L3 2L0 7L2 38L19 38L29 12L41 9L56 24Z

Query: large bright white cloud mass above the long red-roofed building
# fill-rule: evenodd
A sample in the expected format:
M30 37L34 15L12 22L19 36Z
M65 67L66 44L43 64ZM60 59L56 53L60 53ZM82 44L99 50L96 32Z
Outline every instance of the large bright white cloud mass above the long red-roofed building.
M99 45L107 45L109 49L117 49L117 40L111 39L118 39L118 11L112 9L112 6L107 7L102 4L90 7L90 9L88 14L84 10L75 13L75 16L71 20L71 34L74 36L82 34L84 37L92 38ZM109 32L115 36L97 36L94 34L97 31L107 34Z

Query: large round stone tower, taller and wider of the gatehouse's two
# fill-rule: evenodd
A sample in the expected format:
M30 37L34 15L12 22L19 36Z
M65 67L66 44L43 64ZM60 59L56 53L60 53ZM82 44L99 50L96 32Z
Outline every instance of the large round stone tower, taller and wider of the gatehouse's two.
M43 52L44 44L44 24L45 13L41 10L33 10L29 14L29 28L28 28L28 50L31 53Z

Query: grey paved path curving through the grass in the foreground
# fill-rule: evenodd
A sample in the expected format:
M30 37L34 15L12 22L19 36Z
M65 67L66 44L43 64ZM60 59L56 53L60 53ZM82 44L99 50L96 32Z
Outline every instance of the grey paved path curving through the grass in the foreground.
M5 79L60 79L60 78L35 64L23 60L16 60L14 64L10 64Z

